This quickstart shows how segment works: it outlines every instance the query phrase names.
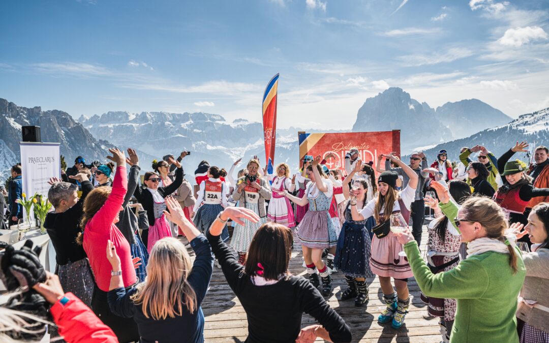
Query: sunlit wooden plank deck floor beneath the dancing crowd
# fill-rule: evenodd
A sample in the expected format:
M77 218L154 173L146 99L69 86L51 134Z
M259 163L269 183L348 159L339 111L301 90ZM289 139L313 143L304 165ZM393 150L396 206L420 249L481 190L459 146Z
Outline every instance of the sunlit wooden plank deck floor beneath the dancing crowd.
M427 233L427 228L424 228ZM427 243L426 234L422 248ZM423 251L424 249L422 249ZM294 275L304 275L301 246L296 244L290 262L290 271ZM333 291L329 305L337 311L351 327L354 342L440 342L438 318L429 318L424 303L419 299L419 287L412 278L408 281L410 289L410 313L400 330L394 330L390 324L379 324L377 317L385 305L378 278L368 279L369 302L367 306L355 307L353 300L340 301L340 294L346 288L345 278L340 272L332 274ZM238 298L227 285L221 269L214 266L210 290L202 302L205 316L204 338L206 342L242 342L248 334L246 313ZM302 326L316 323L304 314Z

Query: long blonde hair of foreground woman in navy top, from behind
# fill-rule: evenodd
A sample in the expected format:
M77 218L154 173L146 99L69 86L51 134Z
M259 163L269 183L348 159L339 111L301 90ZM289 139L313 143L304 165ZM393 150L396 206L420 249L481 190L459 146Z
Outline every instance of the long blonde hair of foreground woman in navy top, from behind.
M197 311L197 295L187 278L193 265L183 243L173 237L157 241L150 252L147 278L137 285L131 296L142 304L145 318L155 320L183 315L183 305L191 313Z

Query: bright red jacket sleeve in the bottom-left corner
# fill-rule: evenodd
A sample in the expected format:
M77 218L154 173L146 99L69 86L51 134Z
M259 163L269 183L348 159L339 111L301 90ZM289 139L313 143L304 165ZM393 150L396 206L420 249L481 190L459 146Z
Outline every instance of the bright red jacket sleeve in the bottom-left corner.
M59 327L59 334L67 342L118 343L113 330L72 293L65 293L49 311Z

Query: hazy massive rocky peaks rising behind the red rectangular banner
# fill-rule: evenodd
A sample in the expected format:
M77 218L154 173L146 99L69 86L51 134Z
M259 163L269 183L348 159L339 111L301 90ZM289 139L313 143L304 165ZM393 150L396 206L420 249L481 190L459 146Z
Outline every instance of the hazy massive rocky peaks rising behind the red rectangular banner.
M503 125L512 118L477 99L446 103L436 110L419 103L398 87L366 99L352 131L401 130L401 148L409 153L419 145L435 145L472 132ZM419 142L419 143L418 143Z

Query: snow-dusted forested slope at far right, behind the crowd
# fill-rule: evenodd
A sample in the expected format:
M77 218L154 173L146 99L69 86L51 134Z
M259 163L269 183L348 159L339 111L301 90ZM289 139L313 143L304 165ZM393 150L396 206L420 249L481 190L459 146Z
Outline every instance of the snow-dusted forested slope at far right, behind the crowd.
M523 114L516 120L506 125L477 132L467 138L452 140L451 142L436 145L433 148L425 150L425 155L429 162L435 159L440 149L448 151L450 160L457 160L462 147L473 147L474 145L484 145L488 150L501 156L519 141L529 142L536 145L549 145L549 108L536 111L530 114ZM531 147L530 147L531 148ZM525 159L525 154L516 154L517 158Z

